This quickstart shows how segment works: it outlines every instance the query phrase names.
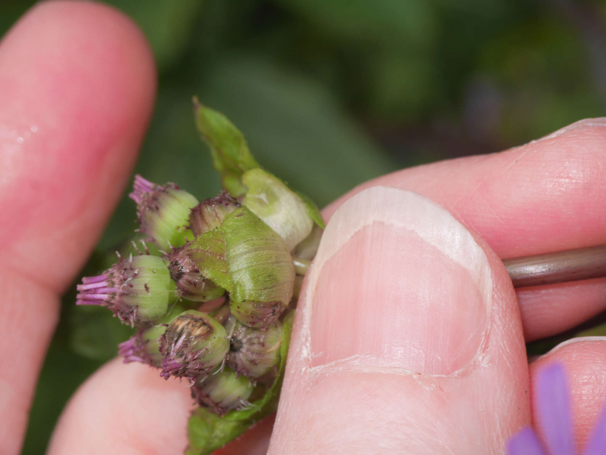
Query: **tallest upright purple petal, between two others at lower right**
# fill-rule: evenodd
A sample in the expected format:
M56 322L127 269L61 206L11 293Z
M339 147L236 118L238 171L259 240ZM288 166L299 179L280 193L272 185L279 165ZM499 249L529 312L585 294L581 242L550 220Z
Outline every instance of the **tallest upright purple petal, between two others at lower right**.
M570 392L562 364L552 364L539 371L535 405L550 454L574 455Z

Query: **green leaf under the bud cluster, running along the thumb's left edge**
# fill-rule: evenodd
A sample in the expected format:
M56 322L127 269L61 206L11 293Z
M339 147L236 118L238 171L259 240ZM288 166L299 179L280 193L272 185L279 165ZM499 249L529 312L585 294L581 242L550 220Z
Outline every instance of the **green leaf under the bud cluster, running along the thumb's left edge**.
M250 407L240 411L230 411L222 417L211 413L206 408L198 408L193 411L188 423L190 446L185 452L186 455L210 454L277 409L294 317L295 311L291 311L285 316L282 323L284 332L278 360L278 377L269 390Z

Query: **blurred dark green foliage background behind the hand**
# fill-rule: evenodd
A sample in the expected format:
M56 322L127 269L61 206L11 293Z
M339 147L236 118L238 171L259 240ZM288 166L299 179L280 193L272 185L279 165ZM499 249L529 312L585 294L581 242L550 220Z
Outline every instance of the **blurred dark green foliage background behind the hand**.
M319 205L401 167L501 150L604 115L602 2L109 3L141 26L159 67L136 172L199 199L214 196L219 180L193 125L195 94L244 132L262 165ZM32 4L2 0L0 32ZM113 262L106 252L132 234L134 220L124 198L83 274ZM64 299L24 454L44 453L68 397L129 335L107 310L76 308L74 295Z

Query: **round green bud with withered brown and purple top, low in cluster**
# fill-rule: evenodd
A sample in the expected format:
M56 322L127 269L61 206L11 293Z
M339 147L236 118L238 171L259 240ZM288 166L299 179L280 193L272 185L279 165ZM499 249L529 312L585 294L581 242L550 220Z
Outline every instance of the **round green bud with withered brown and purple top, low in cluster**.
M225 328L208 314L188 310L173 319L160 338L162 373L196 377L221 364L229 351Z

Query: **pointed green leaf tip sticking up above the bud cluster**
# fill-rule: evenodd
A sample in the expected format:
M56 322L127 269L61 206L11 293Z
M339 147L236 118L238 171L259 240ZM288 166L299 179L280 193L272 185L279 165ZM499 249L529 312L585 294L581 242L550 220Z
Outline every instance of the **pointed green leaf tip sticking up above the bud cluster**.
M213 165L221 175L225 190L232 196L246 192L241 178L245 171L260 167L248 150L242 133L224 115L202 105L193 98L196 127L210 148Z

